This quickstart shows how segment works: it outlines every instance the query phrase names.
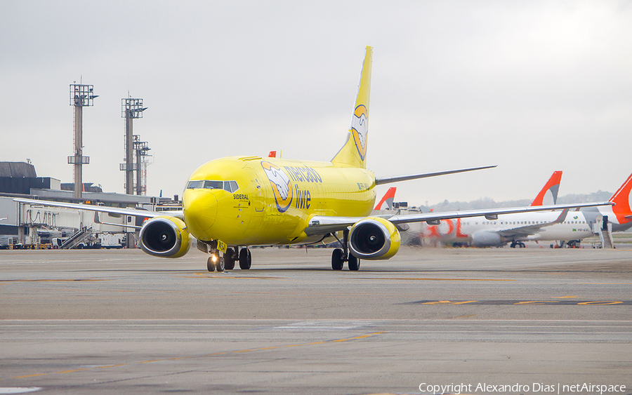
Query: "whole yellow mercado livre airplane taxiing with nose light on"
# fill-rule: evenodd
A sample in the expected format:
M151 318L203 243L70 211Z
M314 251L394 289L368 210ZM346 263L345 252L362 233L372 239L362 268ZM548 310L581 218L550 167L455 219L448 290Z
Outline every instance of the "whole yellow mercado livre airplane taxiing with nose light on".
M360 260L387 260L400 248L399 229L408 222L430 224L456 217L559 210L611 203L529 206L452 213L420 213L369 217L375 205L376 185L495 166L437 173L376 178L367 170L369 91L372 48L367 46L347 140L330 162L296 161L260 156L231 156L200 166L183 193L183 211L151 213L29 199L22 203L62 206L105 213L150 217L140 229L140 247L157 257L181 257L190 248L210 253L209 271L250 269L248 246L309 244L338 240L331 267L360 269Z

